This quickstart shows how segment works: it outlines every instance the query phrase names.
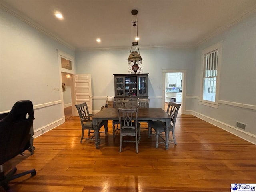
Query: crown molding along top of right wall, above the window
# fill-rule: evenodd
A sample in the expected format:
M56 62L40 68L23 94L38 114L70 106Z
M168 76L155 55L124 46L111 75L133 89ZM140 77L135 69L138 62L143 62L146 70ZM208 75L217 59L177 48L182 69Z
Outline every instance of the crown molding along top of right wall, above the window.
M203 38L202 40L200 40L199 42L196 43L195 47L200 46L204 42L207 42L208 40L212 39L213 37L217 36L218 34L224 32L225 30L228 30L230 27L232 27L235 24L237 24L238 22L244 20L244 18L253 14L254 12L256 12L256 2L255 2L255 5L250 10L248 10L247 12L244 12L243 14L238 16L235 20L231 20L225 26L222 26L222 27L218 28L217 30L215 30L214 32L212 32L211 34L205 36L205 38Z

